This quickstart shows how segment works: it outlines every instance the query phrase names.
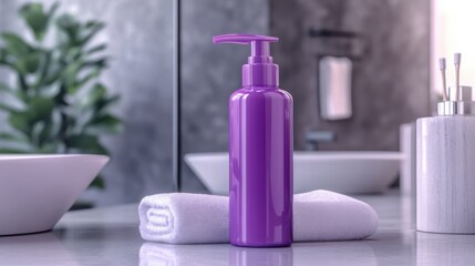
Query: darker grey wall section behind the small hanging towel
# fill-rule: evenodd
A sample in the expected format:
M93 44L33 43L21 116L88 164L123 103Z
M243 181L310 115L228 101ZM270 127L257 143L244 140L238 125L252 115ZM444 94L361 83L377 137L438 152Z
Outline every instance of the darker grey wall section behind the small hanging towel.
M289 10L292 10L289 12ZM333 131L322 150L397 150L399 125L430 113L430 0L272 0L270 32L281 86L295 99L296 149L309 130ZM311 39L310 29L358 33L354 41ZM319 116L317 54L353 58L353 117Z

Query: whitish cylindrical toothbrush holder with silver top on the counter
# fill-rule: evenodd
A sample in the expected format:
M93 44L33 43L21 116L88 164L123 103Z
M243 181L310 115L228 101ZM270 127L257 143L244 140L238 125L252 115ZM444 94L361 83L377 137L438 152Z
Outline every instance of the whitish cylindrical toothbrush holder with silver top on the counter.
M455 91L417 120L417 231L475 234L475 99L469 86Z

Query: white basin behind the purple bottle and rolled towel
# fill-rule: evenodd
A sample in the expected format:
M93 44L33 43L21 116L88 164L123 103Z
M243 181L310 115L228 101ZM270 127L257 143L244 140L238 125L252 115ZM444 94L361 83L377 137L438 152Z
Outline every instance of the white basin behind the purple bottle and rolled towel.
M397 177L402 158L400 152L295 152L293 192L382 193ZM228 153L186 154L185 161L210 193L228 194Z

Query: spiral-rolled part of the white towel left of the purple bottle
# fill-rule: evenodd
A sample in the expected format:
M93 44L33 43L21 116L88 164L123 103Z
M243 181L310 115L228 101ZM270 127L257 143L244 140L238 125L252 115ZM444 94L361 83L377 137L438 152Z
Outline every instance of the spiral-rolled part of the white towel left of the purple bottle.
M172 244L229 242L226 196L171 193L146 196L138 205L145 241Z

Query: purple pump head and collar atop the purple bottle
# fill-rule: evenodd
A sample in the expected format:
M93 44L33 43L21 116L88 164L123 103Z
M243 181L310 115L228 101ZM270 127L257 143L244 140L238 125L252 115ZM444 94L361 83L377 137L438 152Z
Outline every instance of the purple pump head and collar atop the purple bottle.
M250 57L242 65L242 86L278 86L279 65L272 62L269 42L279 41L276 37L254 34L224 34L213 38L214 44L250 44Z

